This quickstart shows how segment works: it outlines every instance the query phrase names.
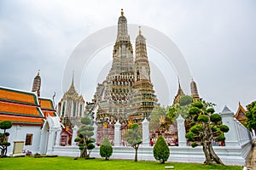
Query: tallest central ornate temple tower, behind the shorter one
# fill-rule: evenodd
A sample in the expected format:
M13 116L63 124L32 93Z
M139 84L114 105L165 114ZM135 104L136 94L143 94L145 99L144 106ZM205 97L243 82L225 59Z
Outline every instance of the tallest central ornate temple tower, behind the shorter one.
M112 67L106 80L98 84L94 102L98 105L97 122L126 119L127 94L134 84L133 49L123 9L118 21L118 33L113 46Z

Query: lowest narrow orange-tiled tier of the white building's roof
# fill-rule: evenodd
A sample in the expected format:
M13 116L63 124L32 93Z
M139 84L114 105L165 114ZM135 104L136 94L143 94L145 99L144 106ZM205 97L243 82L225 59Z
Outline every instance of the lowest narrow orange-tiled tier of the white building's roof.
M11 121L14 123L26 123L26 124L44 124L44 120L40 117L26 117L26 116L11 116L3 115L0 113L0 121Z

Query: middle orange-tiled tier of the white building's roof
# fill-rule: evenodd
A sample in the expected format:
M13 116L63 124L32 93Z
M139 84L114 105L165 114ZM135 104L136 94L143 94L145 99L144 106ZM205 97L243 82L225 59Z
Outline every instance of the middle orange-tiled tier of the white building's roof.
M0 101L0 113L44 117L42 111L37 106L20 105L3 101Z

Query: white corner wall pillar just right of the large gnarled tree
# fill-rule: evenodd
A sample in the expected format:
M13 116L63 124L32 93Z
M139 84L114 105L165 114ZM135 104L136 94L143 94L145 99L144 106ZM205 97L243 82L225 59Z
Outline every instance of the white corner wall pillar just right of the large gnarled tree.
M220 113L222 116L222 122L224 125L230 127L230 131L228 133L224 133L225 145L226 146L235 146L239 145L239 139L236 132L236 125L234 122L234 113L230 111L227 106L224 106L224 110Z

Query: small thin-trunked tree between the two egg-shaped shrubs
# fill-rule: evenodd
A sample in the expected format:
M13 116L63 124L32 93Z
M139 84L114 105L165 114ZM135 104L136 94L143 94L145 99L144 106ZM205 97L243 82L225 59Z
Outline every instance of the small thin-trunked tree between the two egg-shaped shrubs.
M139 145L143 142L138 124L132 124L131 128L127 129L125 132L125 139L128 144L131 144L131 147L135 149L134 161L137 161L137 150Z

